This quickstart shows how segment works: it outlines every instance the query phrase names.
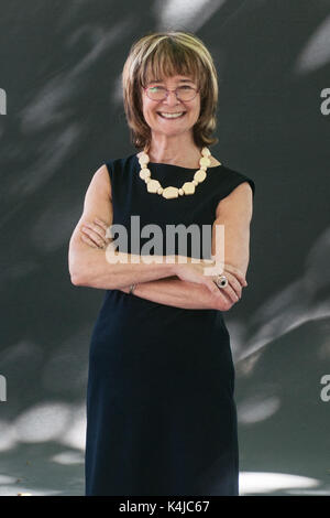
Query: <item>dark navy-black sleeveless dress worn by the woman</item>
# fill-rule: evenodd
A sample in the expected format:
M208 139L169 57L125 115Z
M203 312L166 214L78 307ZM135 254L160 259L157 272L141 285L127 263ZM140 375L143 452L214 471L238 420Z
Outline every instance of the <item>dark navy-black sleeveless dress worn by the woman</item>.
M255 190L250 177L218 165L208 169L195 194L165 199L146 191L136 154L107 166L113 225L124 225L129 237L120 251L129 253L140 253L153 237L143 234L131 242L136 216L140 230L158 225L164 236L167 225L201 228L213 224L219 201L239 184ZM164 188L182 186L196 172L163 163L148 169ZM187 239L186 256L197 257L193 251ZM164 247L163 255L170 253L178 253L176 242L173 250ZM106 290L89 353L86 496L238 495L233 392L230 336L220 311Z

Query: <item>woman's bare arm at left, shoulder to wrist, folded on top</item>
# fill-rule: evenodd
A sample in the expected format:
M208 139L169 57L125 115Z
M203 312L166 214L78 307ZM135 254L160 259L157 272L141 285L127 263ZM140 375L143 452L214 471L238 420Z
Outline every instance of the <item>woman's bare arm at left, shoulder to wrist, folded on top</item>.
M153 281L175 274L175 263L166 262L165 257L150 256L155 262L131 262L132 255L120 252L121 261L111 263L106 250L91 248L84 242L80 228L95 218L112 225L111 182L107 165L101 165L94 174L87 188L84 212L72 235L68 249L70 280L75 285L116 290L130 284ZM136 259L136 256L135 256ZM160 262L156 262L160 259Z

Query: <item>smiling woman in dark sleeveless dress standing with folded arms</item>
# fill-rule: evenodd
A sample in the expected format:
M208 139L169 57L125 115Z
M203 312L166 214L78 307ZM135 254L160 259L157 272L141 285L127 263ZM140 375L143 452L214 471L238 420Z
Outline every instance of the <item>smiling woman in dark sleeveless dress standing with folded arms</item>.
M254 183L208 149L218 141L218 84L197 36L145 35L122 79L142 151L95 173L69 247L73 283L107 290L90 344L86 495L238 495L234 368L222 313L248 285ZM118 250L112 225L128 231ZM150 225L162 235L155 253ZM173 225L211 228L209 253L196 253L200 234L186 240L186 253L183 236L162 251Z

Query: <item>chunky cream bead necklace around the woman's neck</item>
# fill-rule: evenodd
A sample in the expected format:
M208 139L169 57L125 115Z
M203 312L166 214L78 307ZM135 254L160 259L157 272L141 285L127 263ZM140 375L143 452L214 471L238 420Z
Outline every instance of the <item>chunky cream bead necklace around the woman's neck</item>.
M206 171L211 163L210 157L210 150L208 148L202 148L201 159L199 160L200 168L194 174L194 180L191 182L185 182L180 188L173 186L163 188L157 180L153 180L151 177L151 171L147 169L150 158L144 150L139 158L139 163L141 165L140 177L146 183L148 193L157 193L166 199L177 198L179 195L183 196L184 194L194 194L195 186L204 182L207 176Z

